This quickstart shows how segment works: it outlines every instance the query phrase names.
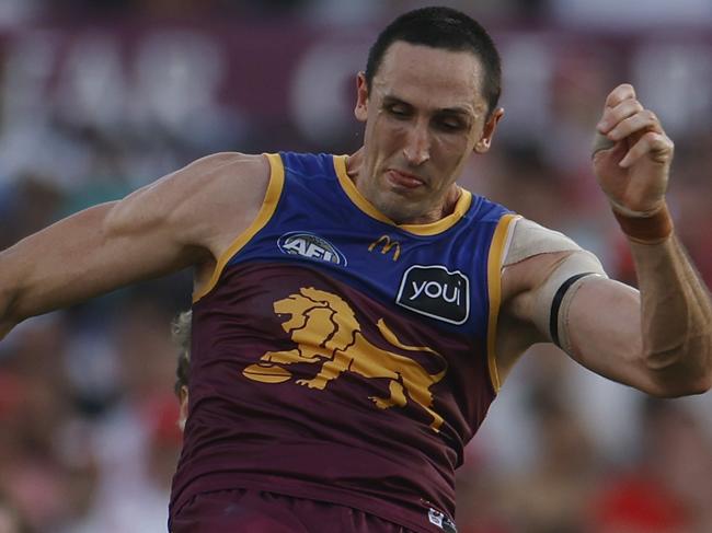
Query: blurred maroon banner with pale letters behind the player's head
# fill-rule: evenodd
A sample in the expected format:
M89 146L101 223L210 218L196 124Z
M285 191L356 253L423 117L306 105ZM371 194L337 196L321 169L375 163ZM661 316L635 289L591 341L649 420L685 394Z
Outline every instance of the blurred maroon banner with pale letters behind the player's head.
M110 137L128 132L133 149L166 137L193 147L191 157L216 149L345 152L360 143L355 73L374 32L285 21L25 28L0 42L0 125L5 137L57 123ZM712 131L712 31L499 28L495 37L505 67L501 139L554 139L586 151L583 137L601 99L622 81L635 84L677 139Z

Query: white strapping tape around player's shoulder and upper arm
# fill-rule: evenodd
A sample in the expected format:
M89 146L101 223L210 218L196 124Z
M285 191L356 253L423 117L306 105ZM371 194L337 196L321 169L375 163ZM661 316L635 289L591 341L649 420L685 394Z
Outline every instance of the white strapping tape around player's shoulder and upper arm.
M567 316L574 294L592 277L608 276L598 257L563 233L527 219L519 219L516 224L505 255L505 267L540 254L570 252L535 289L532 306L532 321L538 329L570 351Z

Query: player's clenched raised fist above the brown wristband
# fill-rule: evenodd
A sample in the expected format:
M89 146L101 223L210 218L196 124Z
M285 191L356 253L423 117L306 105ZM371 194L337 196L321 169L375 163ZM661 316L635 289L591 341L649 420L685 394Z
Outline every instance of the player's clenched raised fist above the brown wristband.
M606 99L596 126L594 172L611 204L652 213L665 202L674 144L657 116L643 107L632 85L618 85Z

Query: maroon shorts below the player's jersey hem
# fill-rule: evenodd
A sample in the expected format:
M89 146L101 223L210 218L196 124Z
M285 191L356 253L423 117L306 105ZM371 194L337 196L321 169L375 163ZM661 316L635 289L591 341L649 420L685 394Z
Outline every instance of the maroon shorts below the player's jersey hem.
M172 533L412 533L372 514L260 490L197 495L173 517Z

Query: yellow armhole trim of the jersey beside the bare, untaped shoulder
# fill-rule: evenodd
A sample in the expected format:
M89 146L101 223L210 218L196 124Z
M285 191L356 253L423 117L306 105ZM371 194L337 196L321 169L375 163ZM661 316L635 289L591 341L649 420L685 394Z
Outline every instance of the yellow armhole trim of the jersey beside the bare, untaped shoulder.
M262 201L262 207L252 223L240 233L234 241L232 241L230 246L228 246L228 250L220 255L220 258L215 266L215 270L213 270L213 275L210 276L210 280L199 290L193 292L193 303L197 303L198 300L215 288L228 262L245 244L248 244L250 240L267 224L267 222L269 222L269 219L272 219L272 216L277 209L277 202L282 196L285 183L285 165L278 153L265 153L263 155L266 157L269 162L269 183L267 184L267 192Z

